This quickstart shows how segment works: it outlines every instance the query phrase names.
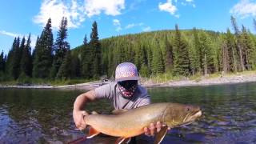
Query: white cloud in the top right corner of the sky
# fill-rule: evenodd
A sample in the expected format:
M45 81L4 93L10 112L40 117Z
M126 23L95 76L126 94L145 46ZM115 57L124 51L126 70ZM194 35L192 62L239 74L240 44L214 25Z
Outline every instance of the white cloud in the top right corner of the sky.
M241 18L246 18L250 15L256 16L256 2L241 0L231 8L230 13Z

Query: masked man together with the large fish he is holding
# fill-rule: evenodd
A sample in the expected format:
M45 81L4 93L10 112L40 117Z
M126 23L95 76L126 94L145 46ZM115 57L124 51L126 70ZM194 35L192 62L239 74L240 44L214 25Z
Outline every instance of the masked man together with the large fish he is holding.
M116 143L130 142L139 134L154 135L154 143L162 142L167 130L186 126L202 115L199 106L162 102L150 104L150 96L138 85L138 71L130 62L117 66L115 81L80 94L74 102L73 117L79 130L90 126L86 138L103 133L118 137ZM88 114L82 110L86 102L108 98L115 115ZM162 125L164 124L164 125ZM78 142L76 140L75 142Z

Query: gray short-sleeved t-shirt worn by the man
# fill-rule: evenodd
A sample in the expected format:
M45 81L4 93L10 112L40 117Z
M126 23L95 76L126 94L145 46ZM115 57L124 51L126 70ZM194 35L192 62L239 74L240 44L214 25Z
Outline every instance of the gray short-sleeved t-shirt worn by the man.
M95 89L96 98L107 98L113 102L114 109L133 109L150 104L150 95L144 87L139 86L131 98L123 98L117 82L99 86Z

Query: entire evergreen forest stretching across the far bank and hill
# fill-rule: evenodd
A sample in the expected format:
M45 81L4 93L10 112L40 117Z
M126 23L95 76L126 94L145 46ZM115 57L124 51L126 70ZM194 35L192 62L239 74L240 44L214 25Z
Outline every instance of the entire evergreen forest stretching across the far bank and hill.
M232 30L158 30L99 39L97 22L90 37L70 50L66 41L67 20L62 18L54 41L49 18L36 46L31 50L30 36L14 38L8 54L0 55L0 82L33 83L34 79L94 80L114 77L121 62L134 62L142 77L159 74L190 77L196 74L236 73L256 70L256 37L238 26L231 16ZM256 21L253 20L256 30ZM72 37L72 36L70 36Z

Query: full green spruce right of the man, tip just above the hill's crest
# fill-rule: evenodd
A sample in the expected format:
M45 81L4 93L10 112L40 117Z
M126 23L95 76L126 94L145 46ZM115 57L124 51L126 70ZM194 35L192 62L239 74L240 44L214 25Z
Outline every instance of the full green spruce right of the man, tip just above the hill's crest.
M182 39L182 35L175 25L174 38L174 74L189 75L190 59L186 42Z

